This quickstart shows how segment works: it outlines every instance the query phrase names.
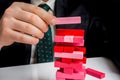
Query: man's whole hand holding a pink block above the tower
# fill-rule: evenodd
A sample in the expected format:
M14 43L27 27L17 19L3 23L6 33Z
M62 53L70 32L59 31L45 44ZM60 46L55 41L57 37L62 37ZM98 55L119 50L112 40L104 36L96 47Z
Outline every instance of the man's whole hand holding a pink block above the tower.
M0 20L0 47L14 42L37 44L55 25L56 17L32 4L14 2L6 9Z

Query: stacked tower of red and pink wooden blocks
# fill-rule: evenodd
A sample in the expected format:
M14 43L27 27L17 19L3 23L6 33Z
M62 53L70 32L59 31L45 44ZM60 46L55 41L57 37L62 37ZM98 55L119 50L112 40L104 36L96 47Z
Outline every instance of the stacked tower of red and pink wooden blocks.
M54 42L56 80L85 80L84 30L57 29Z

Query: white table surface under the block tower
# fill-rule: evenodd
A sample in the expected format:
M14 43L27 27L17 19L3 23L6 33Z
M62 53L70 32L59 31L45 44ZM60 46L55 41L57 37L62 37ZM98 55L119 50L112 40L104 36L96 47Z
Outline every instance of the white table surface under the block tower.
M93 68L106 74L101 80L120 80L120 74L113 63L102 57L88 58L86 68ZM0 68L0 80L56 80L57 68L54 62ZM85 80L100 80L86 75Z

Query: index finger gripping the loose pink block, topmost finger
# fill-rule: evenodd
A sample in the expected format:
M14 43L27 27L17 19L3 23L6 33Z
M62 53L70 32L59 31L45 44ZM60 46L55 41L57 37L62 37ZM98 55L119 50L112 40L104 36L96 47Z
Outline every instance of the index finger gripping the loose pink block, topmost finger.
M42 9L42 8L36 6L36 5L26 4L26 3L17 3L16 2L13 5L16 6L17 4L20 5L19 9L22 9L24 11L31 12L31 13L34 13L34 14L38 15L47 24L51 24L51 25L56 24L56 17L53 16L52 14L48 13L44 9Z

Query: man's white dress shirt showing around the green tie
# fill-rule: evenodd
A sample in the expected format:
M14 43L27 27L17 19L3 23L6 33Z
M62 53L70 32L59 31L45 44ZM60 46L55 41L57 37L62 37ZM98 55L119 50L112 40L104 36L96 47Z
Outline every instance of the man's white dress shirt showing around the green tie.
M54 4L55 4L55 0L48 0L47 2L44 2L42 0L31 0L31 3L34 4L34 5L39 5L39 4L43 4L43 3L46 3L52 11L49 11L51 14L53 14L53 11L54 11ZM55 27L52 27L51 26L51 30L52 30L52 38L54 37L55 35ZM54 40L54 38L53 38ZM35 59L36 59L36 56L35 56L35 49L36 49L36 45L32 45L32 49L31 49L31 59L30 59L30 63L34 63L35 62Z

